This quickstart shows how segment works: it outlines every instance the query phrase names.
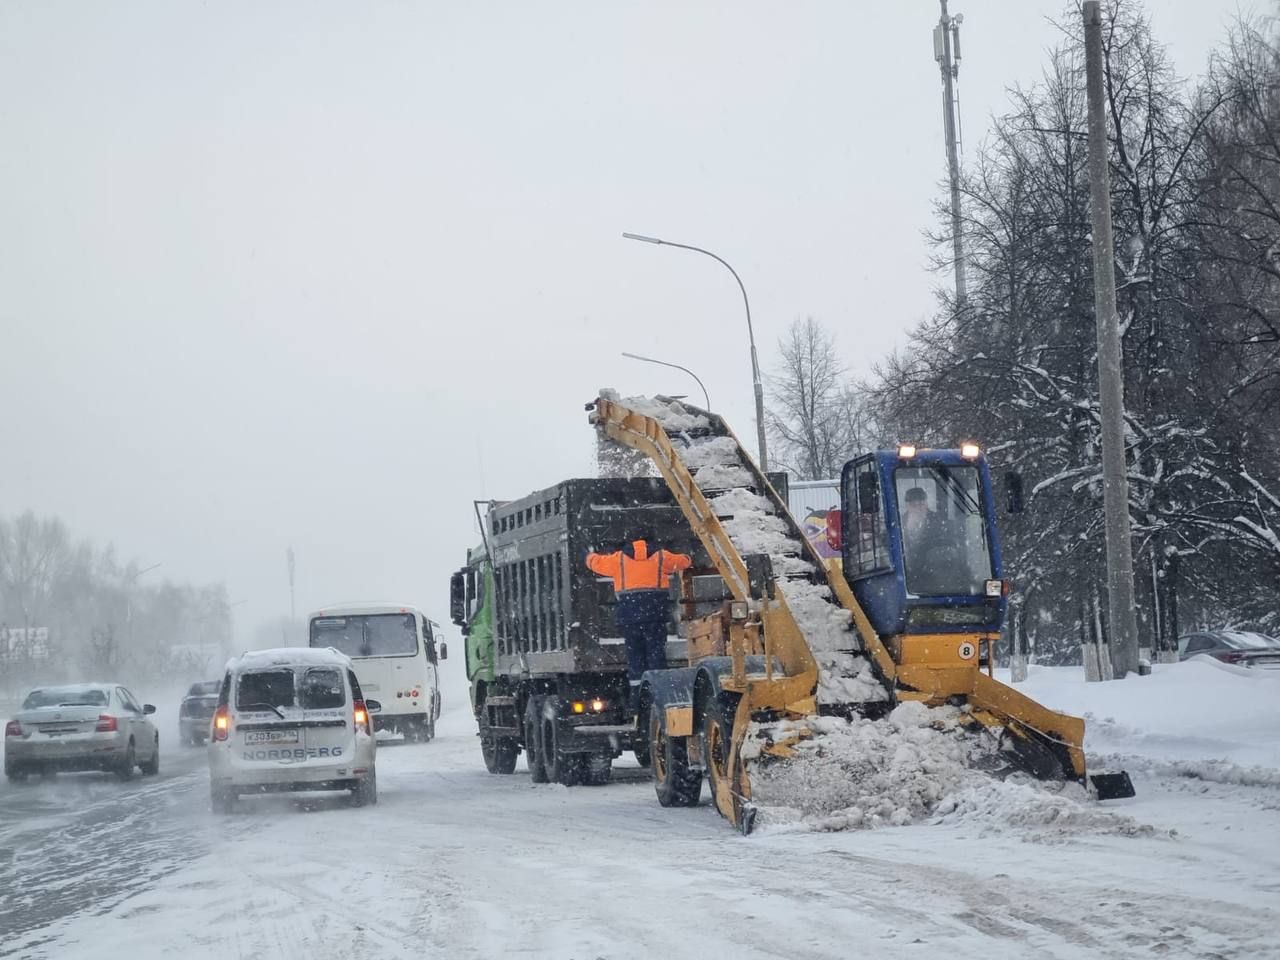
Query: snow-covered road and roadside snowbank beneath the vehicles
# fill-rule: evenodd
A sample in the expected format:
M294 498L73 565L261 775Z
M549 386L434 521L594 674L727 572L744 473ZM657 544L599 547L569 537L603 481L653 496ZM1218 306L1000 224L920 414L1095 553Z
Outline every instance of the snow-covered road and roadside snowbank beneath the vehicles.
M1280 957L1280 675L1033 668L1137 797L991 783L909 826L748 838L635 768L486 774L451 680L436 741L380 749L376 808L215 818L198 751L161 781L0 787L0 956ZM32 919L68 891L92 893Z

